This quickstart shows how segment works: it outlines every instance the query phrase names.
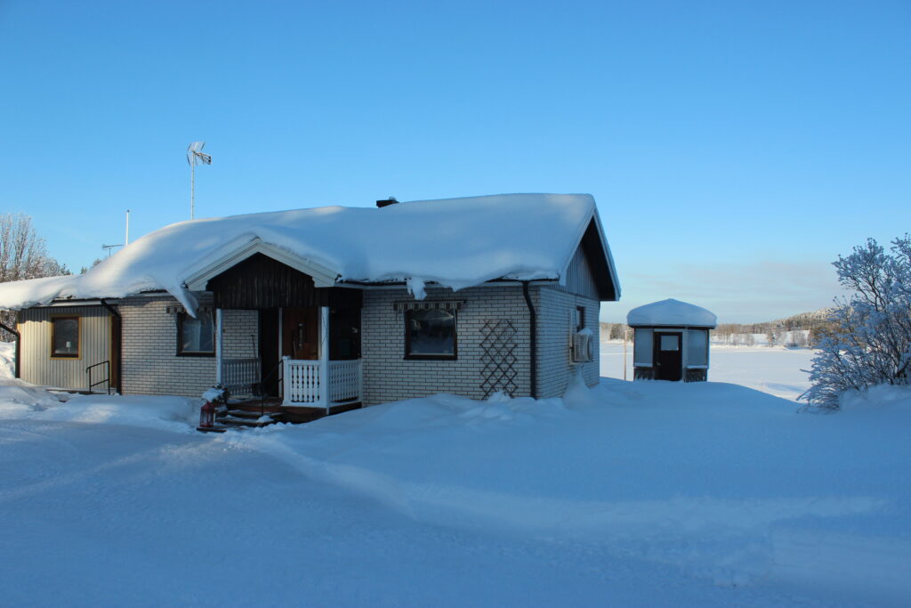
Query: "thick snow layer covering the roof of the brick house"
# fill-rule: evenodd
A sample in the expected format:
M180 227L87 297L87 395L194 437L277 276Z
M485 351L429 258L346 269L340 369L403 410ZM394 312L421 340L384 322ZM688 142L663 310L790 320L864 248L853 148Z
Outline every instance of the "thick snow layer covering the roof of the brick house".
M558 279L592 222L616 299L617 274L589 194L501 194L178 222L131 242L85 274L0 284L0 308L166 290L195 309L188 281L237 252L263 247L281 253L282 262L312 269L322 284L333 277L404 281L418 298L427 282L462 289L501 278Z

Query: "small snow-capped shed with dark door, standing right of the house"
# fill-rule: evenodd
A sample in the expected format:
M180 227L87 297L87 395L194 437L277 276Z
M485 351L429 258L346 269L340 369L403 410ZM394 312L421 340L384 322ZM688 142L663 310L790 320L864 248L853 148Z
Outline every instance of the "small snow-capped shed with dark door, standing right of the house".
M718 324L710 311L661 300L633 308L627 325L633 336L633 378L701 382L709 376L709 330Z

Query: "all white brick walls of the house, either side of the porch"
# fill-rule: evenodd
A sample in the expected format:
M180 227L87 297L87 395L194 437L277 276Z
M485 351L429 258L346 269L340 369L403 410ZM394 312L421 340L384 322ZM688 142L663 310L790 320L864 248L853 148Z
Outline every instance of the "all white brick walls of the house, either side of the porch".
M538 397L559 397L569 378L581 367L586 384L599 379L599 362L572 365L569 359L569 324L577 305L586 308L586 325L598 339L599 305L595 300L569 294L565 289L533 285L537 310ZM458 358L443 361L404 359L404 314L394 310L396 301L410 301L402 289L366 290L363 294L362 352L365 405L397 399L426 397L446 392L471 398L484 397L481 388L483 349L481 327L487 319L508 319L517 330L515 368L517 397L530 395L528 309L522 288L473 287L453 293L430 288L428 300L464 301L456 316ZM214 357L177 356L174 314L165 312L178 304L170 296L135 297L120 301L123 315L123 390L125 394L199 397L215 383ZM209 304L202 302L201 304ZM256 311L224 311L225 356L258 356L259 323Z

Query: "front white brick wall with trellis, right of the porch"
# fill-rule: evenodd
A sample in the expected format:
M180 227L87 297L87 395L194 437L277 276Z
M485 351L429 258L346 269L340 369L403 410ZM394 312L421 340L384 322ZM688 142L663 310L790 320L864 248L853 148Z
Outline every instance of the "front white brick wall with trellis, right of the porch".
M397 399L452 393L482 398L481 327L486 319L509 319L517 329L517 397L529 394L528 309L519 286L472 287L459 292L427 289L427 300L464 300L456 314L458 358L445 361L404 359L404 313L395 301L412 301L403 289L363 293L363 401L374 405Z

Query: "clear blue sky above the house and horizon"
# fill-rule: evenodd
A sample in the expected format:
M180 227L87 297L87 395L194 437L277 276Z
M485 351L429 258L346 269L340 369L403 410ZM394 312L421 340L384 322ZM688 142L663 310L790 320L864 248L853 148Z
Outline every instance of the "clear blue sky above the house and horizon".
M811 310L911 229L911 3L0 0L0 211L78 269L189 217L590 192L619 321Z

